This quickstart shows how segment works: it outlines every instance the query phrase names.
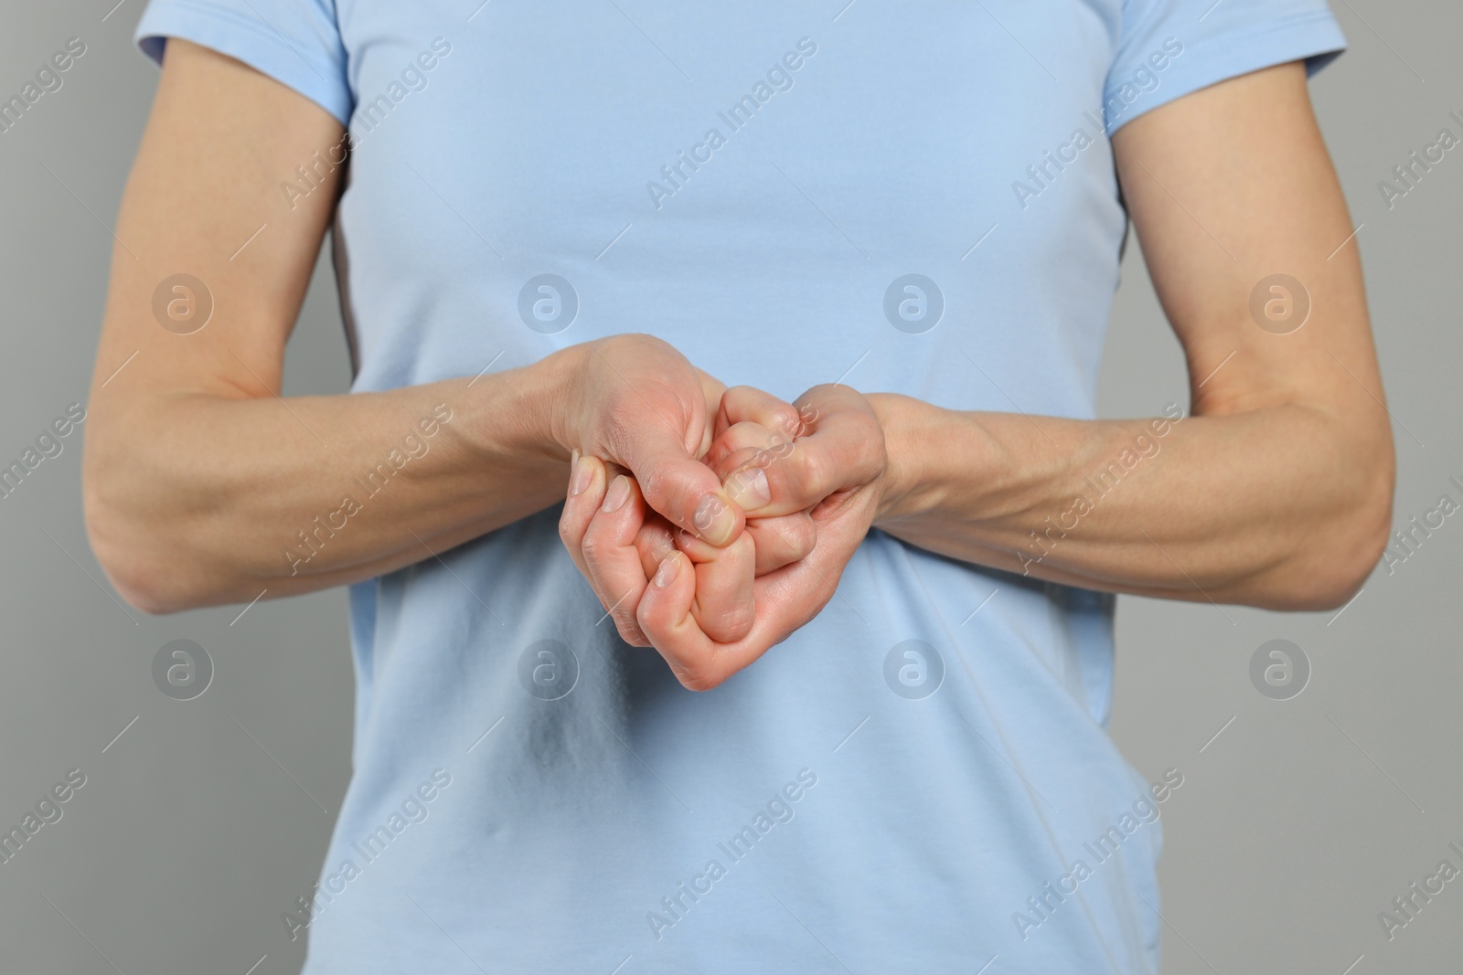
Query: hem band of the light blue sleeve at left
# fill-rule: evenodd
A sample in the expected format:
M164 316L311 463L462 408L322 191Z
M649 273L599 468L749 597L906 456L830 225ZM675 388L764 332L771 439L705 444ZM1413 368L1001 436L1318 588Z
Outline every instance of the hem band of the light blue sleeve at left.
M350 124L353 99L348 88L329 80L339 66L320 64L293 47L266 23L255 22L233 10L203 3L171 3L149 7L138 23L136 42L158 64L171 37L192 41L243 61L291 88L331 113L342 126Z

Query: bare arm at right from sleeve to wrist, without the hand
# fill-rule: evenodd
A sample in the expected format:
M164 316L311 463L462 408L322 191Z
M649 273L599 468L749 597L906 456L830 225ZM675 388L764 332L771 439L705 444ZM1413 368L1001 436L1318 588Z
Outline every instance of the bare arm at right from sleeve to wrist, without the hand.
M1344 602L1385 545L1394 460L1358 251L1337 250L1352 225L1302 66L1160 107L1113 149L1192 415L1033 422L873 396L890 452L876 526L1094 589ZM1287 335L1251 316L1271 273L1309 294Z

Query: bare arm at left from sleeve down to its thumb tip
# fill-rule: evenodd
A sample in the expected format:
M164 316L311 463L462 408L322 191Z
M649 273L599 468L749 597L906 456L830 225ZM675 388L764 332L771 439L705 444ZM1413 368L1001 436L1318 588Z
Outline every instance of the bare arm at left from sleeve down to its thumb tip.
M119 592L165 612L367 579L560 500L571 447L654 469L657 510L689 526L721 494L691 460L720 390L654 339L475 380L277 395L339 170L294 209L279 184L341 134L253 69L170 41L117 224L83 462L88 532ZM154 314L154 291L177 273L215 306L189 335ZM629 389L647 370L658 384ZM724 544L740 526L727 503L699 528Z

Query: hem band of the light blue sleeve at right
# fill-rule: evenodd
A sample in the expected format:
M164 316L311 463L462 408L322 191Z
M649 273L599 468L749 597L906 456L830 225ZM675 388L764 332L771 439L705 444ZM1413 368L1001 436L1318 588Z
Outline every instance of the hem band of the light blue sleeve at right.
M1176 73L1163 79L1151 96L1144 95L1119 118L1109 123L1112 134L1160 105L1276 64L1305 60L1306 75L1315 75L1346 50L1346 37L1330 13L1311 13L1246 31L1227 31L1192 44L1176 58ZM1113 92L1106 92L1110 98Z

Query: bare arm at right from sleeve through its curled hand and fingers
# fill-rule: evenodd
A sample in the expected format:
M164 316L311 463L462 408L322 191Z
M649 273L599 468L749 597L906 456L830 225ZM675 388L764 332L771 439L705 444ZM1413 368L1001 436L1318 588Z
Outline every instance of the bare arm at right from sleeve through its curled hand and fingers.
M1274 133L1287 134L1280 148ZM806 509L816 544L756 579L743 560L751 626L712 634L696 617L704 582L688 560L638 551L648 522L633 485L612 485L603 465L581 459L560 535L601 599L625 593L622 633L644 636L686 687L715 687L818 614L870 525L954 558L1115 592L1290 610L1355 592L1385 541L1391 433L1304 69L1154 110L1115 137L1115 152L1188 357L1191 415L955 412L847 386L813 387L794 409L729 390L727 441L708 459L729 485L759 484L758 497L739 496L752 520ZM1304 284L1286 297L1265 282L1255 314L1257 285L1277 272ZM793 449L740 459L756 446L739 439L743 422L765 431L805 414L813 421L794 422L806 436ZM734 574L734 558L715 561Z

